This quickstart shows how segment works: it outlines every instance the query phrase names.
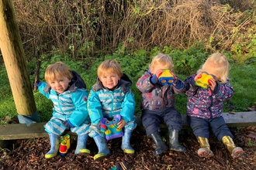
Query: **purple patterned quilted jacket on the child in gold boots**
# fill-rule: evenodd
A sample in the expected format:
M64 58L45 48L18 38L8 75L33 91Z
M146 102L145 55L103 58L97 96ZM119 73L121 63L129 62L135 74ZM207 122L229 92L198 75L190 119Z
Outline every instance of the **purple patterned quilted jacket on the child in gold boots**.
M189 76L185 80L188 96L187 114L191 117L209 119L222 116L223 101L230 99L234 95L230 81L227 83L217 83L214 91L209 88L195 86L196 74Z

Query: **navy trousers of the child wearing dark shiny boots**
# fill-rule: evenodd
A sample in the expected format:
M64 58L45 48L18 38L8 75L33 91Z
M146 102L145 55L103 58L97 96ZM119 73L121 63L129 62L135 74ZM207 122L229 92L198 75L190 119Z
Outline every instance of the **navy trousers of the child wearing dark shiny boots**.
M175 107L157 110L143 110L141 121L147 135L150 135L155 131L161 131L160 124L163 123L168 126L169 130L182 130L182 116Z

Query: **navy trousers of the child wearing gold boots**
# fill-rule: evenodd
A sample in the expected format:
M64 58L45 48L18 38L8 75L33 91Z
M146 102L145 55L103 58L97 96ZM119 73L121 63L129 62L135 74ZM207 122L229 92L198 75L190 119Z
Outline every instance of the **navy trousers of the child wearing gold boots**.
M196 138L209 138L210 130L213 131L213 134L219 141L221 141L223 136L230 136L231 138L234 138L223 117L202 119L199 117L188 116L188 122Z

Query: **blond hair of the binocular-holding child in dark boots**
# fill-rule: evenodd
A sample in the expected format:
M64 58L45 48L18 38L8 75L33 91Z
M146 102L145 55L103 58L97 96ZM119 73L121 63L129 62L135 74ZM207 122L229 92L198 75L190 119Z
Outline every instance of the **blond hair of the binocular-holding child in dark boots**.
M157 56L154 56L152 59L149 68L154 69L154 66L161 64L163 66L166 66L169 70L173 70L174 64L172 63L171 56L168 56L167 54L164 53L159 53Z

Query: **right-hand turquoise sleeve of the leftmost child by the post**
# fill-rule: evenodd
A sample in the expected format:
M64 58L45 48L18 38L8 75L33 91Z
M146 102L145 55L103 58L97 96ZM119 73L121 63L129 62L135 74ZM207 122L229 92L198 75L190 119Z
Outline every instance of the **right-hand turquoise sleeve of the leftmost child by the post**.
M75 127L80 126L85 119L88 117L88 110L87 110L87 98L88 93L85 89L78 89L71 93L71 98L74 102L75 110L69 117L69 121Z

